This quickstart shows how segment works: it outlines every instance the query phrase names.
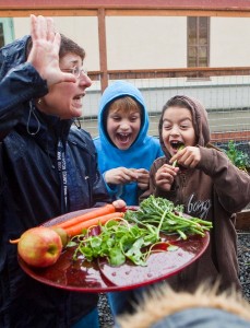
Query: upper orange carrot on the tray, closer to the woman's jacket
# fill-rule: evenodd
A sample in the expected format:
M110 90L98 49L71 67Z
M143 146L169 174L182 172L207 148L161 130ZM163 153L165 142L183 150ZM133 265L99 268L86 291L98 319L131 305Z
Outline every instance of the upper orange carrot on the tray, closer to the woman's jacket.
M91 219L95 219L97 216L103 216L103 215L106 215L106 214L109 214L109 213L114 213L114 212L116 212L116 208L111 203L107 203L104 207L96 208L96 210L93 210L91 212L87 212L87 213L84 213L82 215L78 215L78 216L71 218L71 219L69 219L69 220L67 220L64 222L56 224L55 226L60 226L60 227L67 229L69 226L79 224L81 222L85 222L85 221L88 221Z

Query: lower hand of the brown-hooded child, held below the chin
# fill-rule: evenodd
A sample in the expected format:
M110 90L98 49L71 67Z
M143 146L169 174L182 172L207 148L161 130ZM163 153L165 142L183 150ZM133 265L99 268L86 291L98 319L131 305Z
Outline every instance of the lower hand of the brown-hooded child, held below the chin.
M164 164L155 174L156 186L165 191L169 191L178 171L179 167Z

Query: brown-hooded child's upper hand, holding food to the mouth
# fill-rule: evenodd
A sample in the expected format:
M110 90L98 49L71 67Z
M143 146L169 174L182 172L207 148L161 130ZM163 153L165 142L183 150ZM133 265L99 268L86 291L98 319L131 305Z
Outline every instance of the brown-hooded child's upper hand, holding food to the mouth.
M194 168L201 161L201 152L198 147L188 145L178 151L169 161L172 164L177 160L177 163L183 167Z

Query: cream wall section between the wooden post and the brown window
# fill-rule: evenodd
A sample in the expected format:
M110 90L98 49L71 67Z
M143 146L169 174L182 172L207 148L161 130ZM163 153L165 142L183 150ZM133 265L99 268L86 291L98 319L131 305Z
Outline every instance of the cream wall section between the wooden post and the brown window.
M107 17L108 68L187 67L186 17Z

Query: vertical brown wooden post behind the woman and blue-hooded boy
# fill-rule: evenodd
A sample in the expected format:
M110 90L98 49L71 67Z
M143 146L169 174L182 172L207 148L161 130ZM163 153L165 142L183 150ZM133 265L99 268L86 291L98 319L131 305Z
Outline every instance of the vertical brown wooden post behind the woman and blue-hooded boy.
M100 87L102 93L108 86L108 65L107 65L107 42L105 9L98 9L98 37L99 37L99 68L100 68Z

